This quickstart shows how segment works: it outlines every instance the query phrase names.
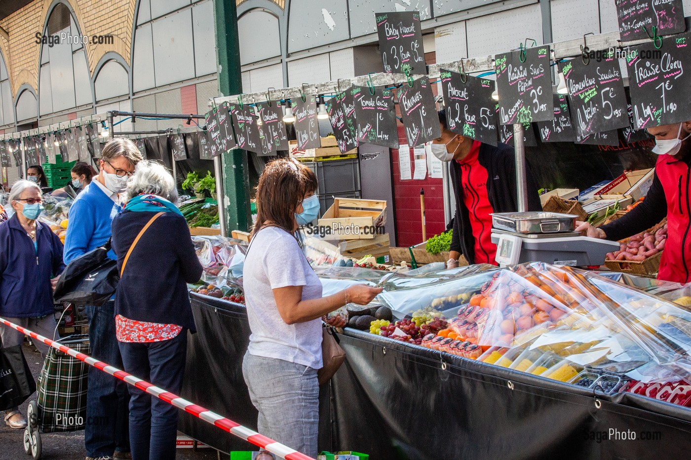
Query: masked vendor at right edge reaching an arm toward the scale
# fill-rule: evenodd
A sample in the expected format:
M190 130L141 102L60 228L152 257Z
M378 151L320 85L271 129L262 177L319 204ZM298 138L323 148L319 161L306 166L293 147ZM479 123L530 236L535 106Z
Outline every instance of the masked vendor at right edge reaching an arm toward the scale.
M668 239L657 278L691 281L691 121L648 128L659 155L645 199L614 222L596 229L577 222L577 231L592 238L618 241L641 233L667 217Z

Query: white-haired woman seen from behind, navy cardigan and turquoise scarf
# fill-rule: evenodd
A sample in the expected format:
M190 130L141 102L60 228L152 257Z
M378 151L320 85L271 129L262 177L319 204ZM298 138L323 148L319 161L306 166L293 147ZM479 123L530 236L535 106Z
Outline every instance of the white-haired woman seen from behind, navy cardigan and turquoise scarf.
M113 251L122 272L115 332L124 370L180 394L187 331L195 332L187 283L199 280L202 266L175 204L175 180L164 166L139 162L124 198L124 211L113 219ZM129 392L132 459L174 459L178 409L136 387Z

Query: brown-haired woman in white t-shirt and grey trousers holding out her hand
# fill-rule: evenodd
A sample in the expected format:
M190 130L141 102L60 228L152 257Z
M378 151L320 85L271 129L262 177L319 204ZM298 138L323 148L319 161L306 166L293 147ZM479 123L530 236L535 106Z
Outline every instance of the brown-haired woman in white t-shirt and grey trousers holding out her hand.
M312 170L302 164L267 164L259 178L257 220L243 269L252 329L243 376L259 411L258 432L314 458L321 318L347 303L366 305L381 292L353 285L321 296L321 282L295 237L298 222L316 217L316 184Z

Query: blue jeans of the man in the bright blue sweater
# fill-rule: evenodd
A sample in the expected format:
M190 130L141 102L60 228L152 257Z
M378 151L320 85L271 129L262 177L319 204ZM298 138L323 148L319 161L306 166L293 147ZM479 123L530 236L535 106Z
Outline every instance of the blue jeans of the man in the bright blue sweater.
M108 300L101 307L88 305L88 338L91 356L122 369L122 356L115 338L115 303ZM115 450L129 452L127 428L127 384L98 370L88 368L86 392L86 430L84 445L87 457L111 457Z

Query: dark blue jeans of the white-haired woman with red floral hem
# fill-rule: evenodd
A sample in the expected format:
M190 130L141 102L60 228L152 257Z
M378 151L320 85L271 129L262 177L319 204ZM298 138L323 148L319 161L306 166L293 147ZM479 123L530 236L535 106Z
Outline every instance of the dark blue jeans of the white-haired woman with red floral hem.
M167 341L120 342L125 372L180 395L187 356L187 329ZM169 460L176 455L178 408L161 399L129 387L130 445L132 460Z

